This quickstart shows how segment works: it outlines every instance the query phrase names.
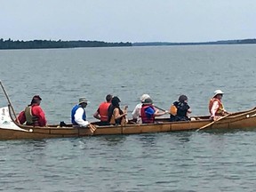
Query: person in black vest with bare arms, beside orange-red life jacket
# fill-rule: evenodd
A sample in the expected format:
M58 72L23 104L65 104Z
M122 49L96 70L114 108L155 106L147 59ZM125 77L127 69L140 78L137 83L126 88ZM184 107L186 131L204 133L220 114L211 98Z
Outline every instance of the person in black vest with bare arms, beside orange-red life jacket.
M122 110L119 106L120 102L121 100L118 97L115 96L112 98L111 105L108 108L109 124L121 124L122 121L124 122L128 106L124 106L124 110Z

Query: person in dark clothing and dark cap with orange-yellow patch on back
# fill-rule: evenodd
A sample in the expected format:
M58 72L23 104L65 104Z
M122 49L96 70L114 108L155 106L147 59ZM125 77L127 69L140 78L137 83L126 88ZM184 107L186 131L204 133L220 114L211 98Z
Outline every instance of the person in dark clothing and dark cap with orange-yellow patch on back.
M188 106L188 97L180 95L179 101L173 102L170 108L170 121L189 121L188 114L192 113Z

